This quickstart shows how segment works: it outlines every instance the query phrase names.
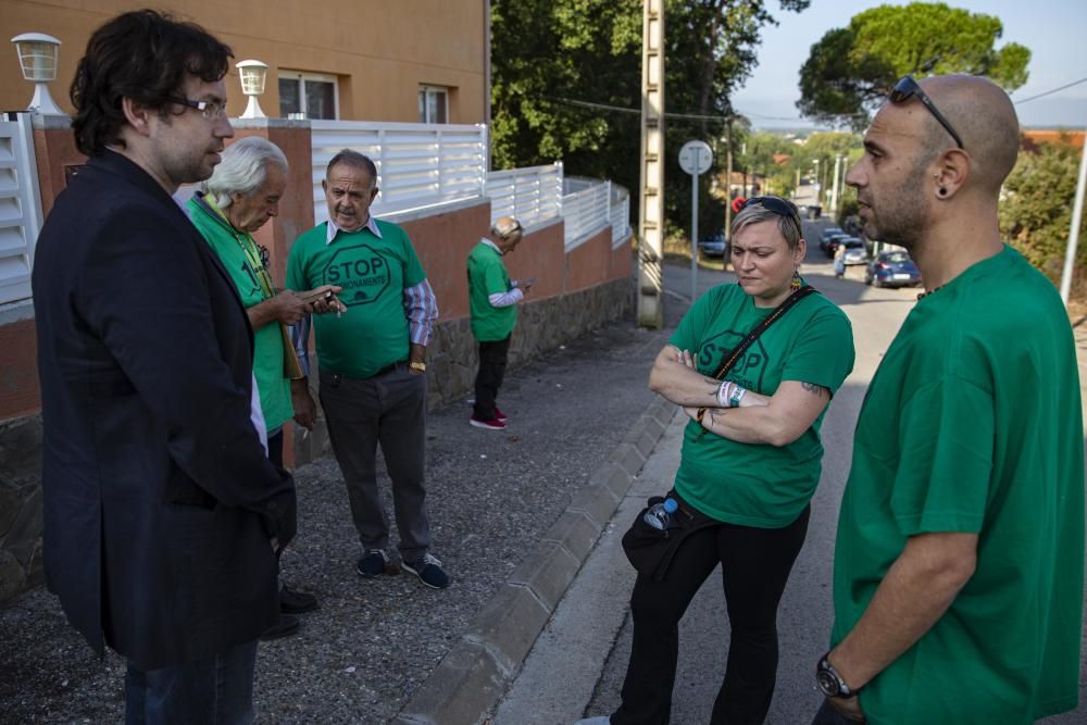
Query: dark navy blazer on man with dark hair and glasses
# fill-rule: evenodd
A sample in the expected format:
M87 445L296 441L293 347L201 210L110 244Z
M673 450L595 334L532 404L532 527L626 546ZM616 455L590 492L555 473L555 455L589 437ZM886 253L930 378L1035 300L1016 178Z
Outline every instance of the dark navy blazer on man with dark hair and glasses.
M33 285L49 589L99 653L145 670L255 640L295 488L250 422L252 329L226 271L108 151L57 198Z

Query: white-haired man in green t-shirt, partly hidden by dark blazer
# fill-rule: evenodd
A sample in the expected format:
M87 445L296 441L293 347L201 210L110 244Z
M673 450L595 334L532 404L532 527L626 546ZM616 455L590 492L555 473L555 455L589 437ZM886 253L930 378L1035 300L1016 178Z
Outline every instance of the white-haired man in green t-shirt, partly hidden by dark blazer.
M268 458L280 466L283 426L295 414L290 380L284 374L285 363L293 360L293 350L285 343L282 325L291 325L310 312L335 309L338 302L328 295L339 291L338 287L327 287L276 292L267 270L266 249L253 240L252 234L279 213L287 170L287 158L277 146L263 138L243 138L226 148L223 161L186 207L193 225L230 275L249 315L253 376L267 427ZM313 595L282 585L279 622L262 639L293 634L299 626L297 614L316 607Z

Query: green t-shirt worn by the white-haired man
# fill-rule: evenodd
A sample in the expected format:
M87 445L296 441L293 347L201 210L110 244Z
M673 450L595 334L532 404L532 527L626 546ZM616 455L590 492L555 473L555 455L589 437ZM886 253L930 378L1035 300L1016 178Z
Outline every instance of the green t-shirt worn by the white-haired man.
M198 196L189 199L186 211L229 273L241 297L241 304L251 308L271 297L261 285L260 253L252 238L248 234L235 232ZM246 245L251 245L248 254ZM261 413L264 414L264 423L270 432L295 415L290 403L290 380L283 374L284 352L283 333L277 323L268 323L253 330L253 376L261 397Z

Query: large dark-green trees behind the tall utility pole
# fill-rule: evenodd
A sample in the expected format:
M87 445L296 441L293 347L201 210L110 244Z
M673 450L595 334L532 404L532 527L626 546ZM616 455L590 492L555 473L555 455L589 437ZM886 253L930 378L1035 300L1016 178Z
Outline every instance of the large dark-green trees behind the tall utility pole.
M799 12L811 0L778 0ZM729 97L754 68L763 0L666 0L665 176L669 227L690 223L676 160L691 138L720 147ZM641 109L641 0L493 0L491 148L496 168L561 160L570 175L610 178L637 193ZM615 107L615 108L608 108ZM632 112L624 112L626 109ZM678 114L678 115L677 115ZM689 117L694 116L694 117ZM735 145L734 145L735 148ZM725 153L715 148L715 166ZM720 227L708 177L700 228ZM702 201L704 200L704 203Z

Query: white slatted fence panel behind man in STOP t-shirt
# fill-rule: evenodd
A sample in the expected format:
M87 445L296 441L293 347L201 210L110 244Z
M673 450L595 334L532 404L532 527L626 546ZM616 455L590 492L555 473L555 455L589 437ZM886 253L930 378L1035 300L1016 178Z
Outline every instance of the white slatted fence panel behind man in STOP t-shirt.
M324 190L328 162L342 149L377 165L375 216L482 197L486 185L485 126L312 121L313 216L328 218Z

